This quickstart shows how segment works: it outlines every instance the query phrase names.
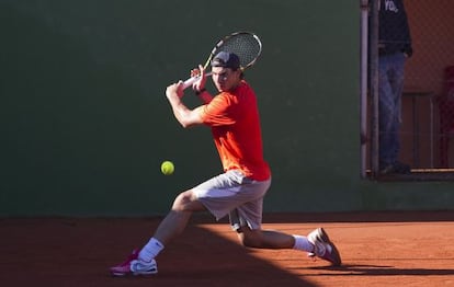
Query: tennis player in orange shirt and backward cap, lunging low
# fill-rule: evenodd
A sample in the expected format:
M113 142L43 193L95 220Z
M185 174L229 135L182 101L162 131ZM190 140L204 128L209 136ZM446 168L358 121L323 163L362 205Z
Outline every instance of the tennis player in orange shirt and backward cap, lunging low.
M205 90L206 76L193 85L203 105L190 110L181 101L182 82L167 88L166 95L177 120L183 127L206 125L212 128L224 173L182 192L152 238L122 264L111 268L114 276L149 275L158 272L155 259L181 234L193 213L208 210L216 219L229 216L240 243L257 249L295 249L308 252L332 265L341 259L327 232L318 228L307 237L262 230L263 197L271 184L271 172L263 159L257 99L243 80L237 55L220 51L212 60L213 82L219 94Z

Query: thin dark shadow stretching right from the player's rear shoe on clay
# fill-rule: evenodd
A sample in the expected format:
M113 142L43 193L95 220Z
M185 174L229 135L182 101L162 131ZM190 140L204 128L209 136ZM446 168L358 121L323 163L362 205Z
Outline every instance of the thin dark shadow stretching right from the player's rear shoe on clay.
M330 276L446 276L454 275L454 269L442 268L396 268L387 265L345 264L339 267L309 267L310 269L330 271ZM332 271L339 273L333 274ZM324 275L320 273L320 275Z

